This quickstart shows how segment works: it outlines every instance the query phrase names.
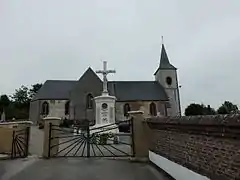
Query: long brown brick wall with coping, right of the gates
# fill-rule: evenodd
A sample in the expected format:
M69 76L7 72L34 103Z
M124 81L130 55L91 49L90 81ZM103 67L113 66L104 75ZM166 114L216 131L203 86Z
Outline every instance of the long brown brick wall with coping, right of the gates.
M147 119L150 150L213 180L240 179L240 115Z

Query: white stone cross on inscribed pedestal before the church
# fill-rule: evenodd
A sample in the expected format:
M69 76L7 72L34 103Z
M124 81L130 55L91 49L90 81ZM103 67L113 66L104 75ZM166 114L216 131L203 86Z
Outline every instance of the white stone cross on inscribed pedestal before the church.
M115 70L107 70L107 62L103 62L103 70L96 71L103 75L103 91L102 95L95 97L96 103L96 124L99 127L107 124L115 123L115 102L116 97L110 96L107 89L107 75L116 73Z

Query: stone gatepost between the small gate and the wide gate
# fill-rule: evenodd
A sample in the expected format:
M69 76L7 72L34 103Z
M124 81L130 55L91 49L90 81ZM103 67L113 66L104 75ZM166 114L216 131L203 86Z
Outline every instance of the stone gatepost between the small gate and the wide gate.
M59 131L56 131L54 129L59 128L61 118L57 117L46 117L43 119L44 121L44 141L43 141L43 157L44 158L50 158L54 154L58 152L58 144L59 144L59 138L50 139L57 137L59 134ZM50 148L54 146L53 148Z

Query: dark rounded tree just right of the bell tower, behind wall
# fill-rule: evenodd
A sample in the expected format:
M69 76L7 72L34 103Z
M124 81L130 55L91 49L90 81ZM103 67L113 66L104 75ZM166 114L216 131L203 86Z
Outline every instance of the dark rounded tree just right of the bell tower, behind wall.
M210 105L192 103L185 109L186 116L213 115L215 110Z

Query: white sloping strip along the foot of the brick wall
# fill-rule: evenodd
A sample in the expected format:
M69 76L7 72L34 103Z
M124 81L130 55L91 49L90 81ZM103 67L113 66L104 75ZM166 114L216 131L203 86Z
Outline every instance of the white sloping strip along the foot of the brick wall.
M176 180L210 180L152 151L149 151L149 159Z

